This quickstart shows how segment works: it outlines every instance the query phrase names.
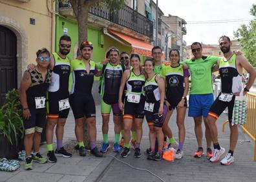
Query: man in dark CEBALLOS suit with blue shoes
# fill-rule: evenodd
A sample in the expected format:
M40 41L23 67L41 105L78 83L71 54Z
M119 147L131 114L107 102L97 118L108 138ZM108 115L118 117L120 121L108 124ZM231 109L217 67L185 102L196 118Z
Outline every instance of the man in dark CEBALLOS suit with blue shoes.
M119 51L116 48L109 50L109 63L101 69L101 116L102 116L102 134L103 145L100 152L105 153L110 147L108 132L109 132L109 115L112 112L114 115L114 152L120 152L118 145L120 137L120 116L121 110L118 106L118 92L125 66L119 63Z

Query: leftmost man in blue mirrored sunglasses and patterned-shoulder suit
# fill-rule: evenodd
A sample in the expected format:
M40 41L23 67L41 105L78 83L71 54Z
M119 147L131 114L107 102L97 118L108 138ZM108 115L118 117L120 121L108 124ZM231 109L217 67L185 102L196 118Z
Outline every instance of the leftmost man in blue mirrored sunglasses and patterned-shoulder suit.
M36 56L35 69L24 73L19 88L25 127L25 170L32 170L32 161L47 163L47 159L39 153L39 146L47 115L45 97L52 76L50 69L47 68L50 63L50 52L43 48L37 51ZM34 153L31 155L32 148Z

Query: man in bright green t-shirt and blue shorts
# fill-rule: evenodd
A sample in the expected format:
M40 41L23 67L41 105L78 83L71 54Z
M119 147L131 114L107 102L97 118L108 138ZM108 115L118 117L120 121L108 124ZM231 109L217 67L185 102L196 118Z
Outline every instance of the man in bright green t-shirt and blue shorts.
M202 56L202 45L195 42L191 45L193 59L183 61L191 73L191 89L189 92L189 113L190 117L195 121L195 135L197 137L198 149L194 157L202 157L204 150L202 148L202 119L206 126L205 136L207 143L207 158L213 156L211 151L211 134L209 126L207 125L207 116L209 108L211 107L213 98L212 86L212 69L217 65L219 57L216 56Z

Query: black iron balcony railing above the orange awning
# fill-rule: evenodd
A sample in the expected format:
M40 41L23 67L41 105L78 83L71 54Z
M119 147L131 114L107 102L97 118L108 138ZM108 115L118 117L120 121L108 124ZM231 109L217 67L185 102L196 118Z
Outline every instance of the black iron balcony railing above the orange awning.
M61 10L61 8L72 7L69 3L59 3L59 9ZM124 6L121 10L116 12L109 10L106 6L93 6L89 9L89 14L101 17L153 39L153 21L150 21L147 17L134 11L129 6Z

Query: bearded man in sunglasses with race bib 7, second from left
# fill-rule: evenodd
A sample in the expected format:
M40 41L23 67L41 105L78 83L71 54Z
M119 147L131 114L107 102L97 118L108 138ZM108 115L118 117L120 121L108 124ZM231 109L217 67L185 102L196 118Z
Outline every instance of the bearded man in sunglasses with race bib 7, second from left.
M57 162L52 147L54 127L56 126L57 148L56 155L71 157L72 154L63 148L62 140L64 126L69 115L69 74L70 61L67 54L70 52L71 39L68 35L63 35L59 39L59 52L54 52L50 56L50 65L52 70L52 82L47 93L47 156L48 161Z

